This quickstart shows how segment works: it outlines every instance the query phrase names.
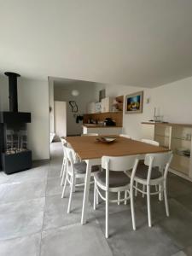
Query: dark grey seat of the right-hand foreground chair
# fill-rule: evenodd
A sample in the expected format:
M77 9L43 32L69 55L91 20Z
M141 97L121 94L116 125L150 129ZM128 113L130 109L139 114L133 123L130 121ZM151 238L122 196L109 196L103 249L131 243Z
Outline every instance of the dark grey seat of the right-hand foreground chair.
M141 161L137 166L137 171L135 177L147 179L148 177L148 166L145 166ZM151 179L162 177L162 173L159 171L159 167L153 167L151 171Z

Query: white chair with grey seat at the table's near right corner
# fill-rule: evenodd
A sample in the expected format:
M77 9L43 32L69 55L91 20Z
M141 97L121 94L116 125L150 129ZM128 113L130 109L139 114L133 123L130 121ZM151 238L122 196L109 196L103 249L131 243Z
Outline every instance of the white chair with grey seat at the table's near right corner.
M161 195L164 192L164 199L166 205L166 216L169 216L169 207L166 193L166 177L169 166L172 161L172 152L160 153L160 154L146 154L143 165L138 165L137 170L134 169L130 172L131 175L131 191L137 189L141 193L147 195L148 204L148 226L151 227L151 207L150 207L150 195ZM141 183L147 186L147 192L138 189L134 186L134 182ZM150 187L159 185L159 190L150 192Z

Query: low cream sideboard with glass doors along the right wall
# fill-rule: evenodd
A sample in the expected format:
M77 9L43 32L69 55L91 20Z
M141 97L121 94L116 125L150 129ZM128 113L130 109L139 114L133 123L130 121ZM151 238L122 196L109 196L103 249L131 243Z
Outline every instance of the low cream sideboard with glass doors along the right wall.
M169 148L173 152L172 172L192 180L192 125L143 123L145 130L153 131L154 140L160 146ZM147 134L147 133L146 133ZM150 138L151 137L145 137Z

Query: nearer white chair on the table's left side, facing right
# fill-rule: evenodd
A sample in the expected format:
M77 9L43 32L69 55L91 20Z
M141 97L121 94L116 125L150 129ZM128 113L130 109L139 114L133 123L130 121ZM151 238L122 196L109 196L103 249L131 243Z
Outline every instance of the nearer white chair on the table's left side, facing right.
M63 145L65 155L66 155L66 161L67 161L67 169L66 169L66 175L65 175L65 182L62 190L61 198L65 196L65 191L67 187L67 183L70 185L70 195L69 195L69 201L68 201L68 207L67 207L67 213L71 211L71 203L72 203L72 194L74 192L75 187L84 186L84 183L76 183L77 178L84 179L86 174L86 162L78 162L75 163L74 161L74 150L73 148L70 148L67 143L64 143ZM92 166L91 172L98 172L97 166ZM91 173L91 176L93 176L93 173Z

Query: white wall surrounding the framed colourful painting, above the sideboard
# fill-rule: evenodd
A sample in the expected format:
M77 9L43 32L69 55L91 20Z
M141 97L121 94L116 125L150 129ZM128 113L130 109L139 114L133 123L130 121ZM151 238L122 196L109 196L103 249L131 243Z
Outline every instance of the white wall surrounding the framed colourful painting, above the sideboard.
M149 134L153 137L150 131L146 135L145 125L141 125L141 122L153 119L154 107L157 108L158 114L163 115L165 121L192 123L192 77L154 89L116 84L102 84L102 88L101 85L98 88L99 90L106 89L106 96L126 96L143 90L143 113L123 114L123 132L133 138L141 139ZM149 98L149 103L146 102L147 98Z

